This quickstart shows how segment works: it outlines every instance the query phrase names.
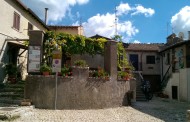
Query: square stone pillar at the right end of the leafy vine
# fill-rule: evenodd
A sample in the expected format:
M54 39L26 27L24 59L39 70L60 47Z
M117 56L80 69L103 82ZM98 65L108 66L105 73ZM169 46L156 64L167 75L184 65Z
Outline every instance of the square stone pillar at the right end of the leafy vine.
M115 81L117 79L117 42L114 40L105 43L104 68Z

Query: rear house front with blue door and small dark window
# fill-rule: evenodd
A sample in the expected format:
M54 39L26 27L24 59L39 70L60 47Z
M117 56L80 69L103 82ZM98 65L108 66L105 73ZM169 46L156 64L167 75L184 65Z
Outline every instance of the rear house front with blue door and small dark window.
M163 44L124 44L129 62L140 71L144 80L151 83L154 92L159 91L161 81L159 50Z

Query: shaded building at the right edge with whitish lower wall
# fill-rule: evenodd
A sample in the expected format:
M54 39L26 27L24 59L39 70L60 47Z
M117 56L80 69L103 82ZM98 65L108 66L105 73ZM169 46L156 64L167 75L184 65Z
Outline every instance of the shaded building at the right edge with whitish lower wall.
M160 54L164 93L170 99L190 101L190 40L172 34Z

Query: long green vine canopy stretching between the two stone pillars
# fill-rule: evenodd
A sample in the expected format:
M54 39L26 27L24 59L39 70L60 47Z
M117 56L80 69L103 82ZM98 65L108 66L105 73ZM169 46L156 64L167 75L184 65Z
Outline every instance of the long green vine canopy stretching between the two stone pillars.
M81 35L72 35L67 33L54 33L48 31L45 34L44 55L45 60L52 56L52 51L59 49L67 56L72 54L103 54L104 43L106 39L91 39Z

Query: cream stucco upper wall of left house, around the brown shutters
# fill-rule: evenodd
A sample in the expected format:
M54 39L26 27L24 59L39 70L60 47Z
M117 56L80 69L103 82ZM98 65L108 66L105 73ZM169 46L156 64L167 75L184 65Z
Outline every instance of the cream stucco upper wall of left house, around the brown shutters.
M9 35L13 38L27 39L28 37L28 22L33 25L34 30L46 30L36 19L28 12L15 5L12 0L1 0L0 11L3 17L0 19L0 32ZM13 28L13 15L17 12L20 15L20 30ZM2 42L2 41L1 41Z

